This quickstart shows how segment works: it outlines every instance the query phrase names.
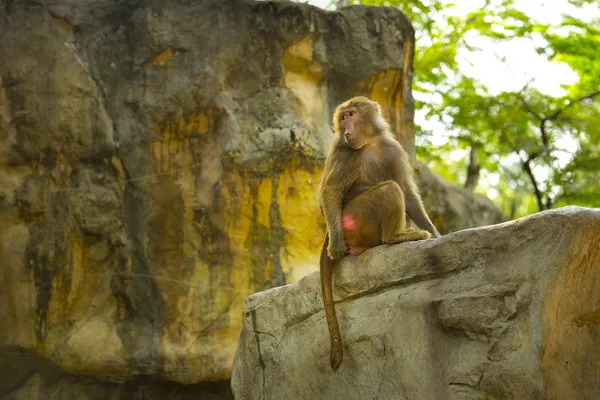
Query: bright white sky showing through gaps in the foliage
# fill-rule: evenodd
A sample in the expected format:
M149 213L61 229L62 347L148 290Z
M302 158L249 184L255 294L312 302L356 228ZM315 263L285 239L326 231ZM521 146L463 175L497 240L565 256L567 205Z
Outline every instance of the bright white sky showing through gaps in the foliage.
M327 7L331 0L307 0L303 1L321 8ZM491 0L492 5L498 0ZM485 0L454 0L455 7L449 11L450 15L460 16L481 8ZM589 22L594 18L600 18L600 7L590 6L577 9L568 0L516 0L515 6L532 19L541 23L559 23L563 14L568 14L582 21ZM477 51L464 49L457 55L460 70L467 76L479 80L485 85L491 94L502 91L515 91L523 88L529 82L531 87L550 96L561 96L565 94L561 85L572 85L579 77L565 63L550 62L543 55L536 53L536 45L543 43L543 39L534 38L514 39L511 41L494 42L472 34L468 38L469 44L477 47ZM419 43L416 44L419 46ZM425 44L422 44L425 45ZM504 58L505 62L501 61ZM423 101L435 101L435 98L423 98L422 94L414 93L415 98ZM426 119L424 111L415 110L415 122L423 129L433 133L430 140L433 145L441 145L447 139L446 125L441 121ZM572 148L576 143L572 140L564 140L563 147ZM450 154L454 161L467 157L466 150L456 150ZM516 157L516 155L515 155ZM559 163L567 164L570 154L559 156ZM507 159L507 163L515 160ZM534 173L538 178L547 176L548 171L544 168L535 168ZM488 184L497 184L499 176L497 173L483 173L482 178ZM495 198L498 192L495 189L488 190L488 197Z

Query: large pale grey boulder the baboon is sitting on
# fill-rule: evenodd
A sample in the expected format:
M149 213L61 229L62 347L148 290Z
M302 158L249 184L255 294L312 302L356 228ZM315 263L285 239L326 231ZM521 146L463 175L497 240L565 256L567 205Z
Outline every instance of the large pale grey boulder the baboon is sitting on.
M236 399L600 398L600 209L344 258L337 372L318 282L247 299Z

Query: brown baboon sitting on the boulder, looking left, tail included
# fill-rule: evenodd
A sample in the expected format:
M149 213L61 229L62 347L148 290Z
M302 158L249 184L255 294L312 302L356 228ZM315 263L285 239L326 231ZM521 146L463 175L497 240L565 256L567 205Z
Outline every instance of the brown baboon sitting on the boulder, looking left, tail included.
M427 216L408 155L378 103L354 97L333 115L335 137L319 190L327 224L321 250L321 293L331 339L331 368L342 362L342 339L331 286L335 260L382 244L440 237ZM424 230L408 231L406 216Z

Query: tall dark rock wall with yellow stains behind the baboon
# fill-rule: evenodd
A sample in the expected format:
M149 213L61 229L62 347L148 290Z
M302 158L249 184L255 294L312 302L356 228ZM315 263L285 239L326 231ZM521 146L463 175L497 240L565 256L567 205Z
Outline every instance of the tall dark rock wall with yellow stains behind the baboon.
M0 37L0 350L64 374L8 398L227 380L244 299L317 268L333 107L413 150L398 10L0 0Z

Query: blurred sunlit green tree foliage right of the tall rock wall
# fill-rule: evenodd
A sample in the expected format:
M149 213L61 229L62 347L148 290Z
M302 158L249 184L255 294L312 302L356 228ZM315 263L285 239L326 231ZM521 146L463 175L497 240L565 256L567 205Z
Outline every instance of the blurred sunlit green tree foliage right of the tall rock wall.
M415 28L415 105L444 127L442 132L421 130L420 159L461 184L469 149L477 146L481 176L499 176L480 178L477 191L501 193L494 201L513 217L567 204L600 206L599 23L565 16L558 25L543 24L521 11L516 0L487 1L460 16L452 12L451 0L353 1L359 2L398 7ZM457 63L461 51L476 50L478 36L495 42L534 39L538 54L566 63L579 80L558 97L530 84L490 93Z

